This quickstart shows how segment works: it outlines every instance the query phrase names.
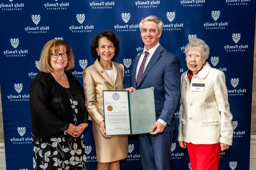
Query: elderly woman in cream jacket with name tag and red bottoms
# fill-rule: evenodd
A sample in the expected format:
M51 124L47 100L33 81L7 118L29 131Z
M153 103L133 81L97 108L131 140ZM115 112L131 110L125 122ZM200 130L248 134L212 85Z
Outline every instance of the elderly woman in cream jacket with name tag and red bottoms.
M181 76L178 141L193 170L218 169L220 150L232 145L232 115L225 75L205 62L209 46L200 39L186 48L188 71Z

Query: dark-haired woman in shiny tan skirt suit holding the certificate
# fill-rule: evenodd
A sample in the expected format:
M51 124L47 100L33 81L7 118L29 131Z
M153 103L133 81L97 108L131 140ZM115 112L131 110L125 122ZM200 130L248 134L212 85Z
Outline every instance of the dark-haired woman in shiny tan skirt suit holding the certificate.
M105 135L103 90L124 90L124 66L111 61L119 52L119 40L110 31L103 31L93 38L91 44L93 65L84 69L83 84L85 107L92 120L93 137L96 145L98 170L118 170L119 160L128 155L128 136Z

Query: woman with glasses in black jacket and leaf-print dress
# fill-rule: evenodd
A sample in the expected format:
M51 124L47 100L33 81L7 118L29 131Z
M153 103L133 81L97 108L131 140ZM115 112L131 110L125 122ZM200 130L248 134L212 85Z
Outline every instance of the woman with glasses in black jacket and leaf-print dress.
M40 73L30 87L34 170L86 170L83 130L88 126L84 91L64 72L74 67L70 45L50 40L41 52Z

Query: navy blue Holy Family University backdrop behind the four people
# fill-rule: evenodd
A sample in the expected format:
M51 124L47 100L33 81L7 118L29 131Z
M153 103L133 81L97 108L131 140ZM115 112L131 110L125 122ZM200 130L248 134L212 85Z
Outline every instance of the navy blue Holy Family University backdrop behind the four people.
M115 61L124 64L128 87L133 57L144 47L138 24L147 15L163 20L160 43L180 58L180 74L187 70L188 41L200 38L210 46L208 62L226 75L233 114L233 145L220 152L219 169L249 169L255 0L1 0L0 83L7 170L33 170L29 87L39 72L43 45L51 39L68 41L75 54L70 72L82 84L83 69L94 63L92 38L103 30L113 31L120 40ZM179 106L174 114L178 126ZM170 161L173 169L189 170L188 153L179 147L177 131ZM84 136L88 169L96 169L91 123ZM142 169L136 136L129 136L127 149L121 169Z

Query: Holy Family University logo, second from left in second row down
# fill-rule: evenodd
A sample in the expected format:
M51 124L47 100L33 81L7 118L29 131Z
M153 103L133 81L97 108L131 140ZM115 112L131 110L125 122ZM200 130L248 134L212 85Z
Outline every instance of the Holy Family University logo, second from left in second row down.
M76 14L76 19L80 25L69 26L69 30L72 33L89 33L94 29L94 25L82 25L85 20L85 14Z

